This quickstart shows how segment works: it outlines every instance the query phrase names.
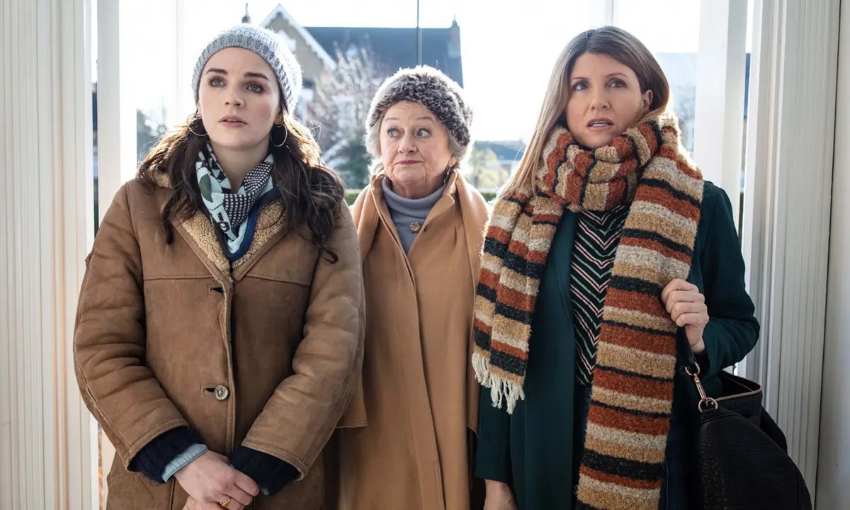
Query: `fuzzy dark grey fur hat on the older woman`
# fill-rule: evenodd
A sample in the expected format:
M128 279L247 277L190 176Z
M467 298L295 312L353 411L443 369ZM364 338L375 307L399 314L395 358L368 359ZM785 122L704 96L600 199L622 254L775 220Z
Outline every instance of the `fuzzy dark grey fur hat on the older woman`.
M399 69L384 80L372 98L366 131L380 122L384 112L399 101L413 101L428 108L464 150L472 141L473 111L463 99L461 86L442 71L419 65L412 69Z

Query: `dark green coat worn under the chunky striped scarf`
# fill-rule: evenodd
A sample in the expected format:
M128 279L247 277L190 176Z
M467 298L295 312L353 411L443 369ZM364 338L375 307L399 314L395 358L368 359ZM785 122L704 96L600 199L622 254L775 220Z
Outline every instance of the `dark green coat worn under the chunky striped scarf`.
M521 510L570 505L573 459L575 328L570 301L570 261L577 216L564 212L541 280L531 325L525 399L512 415L482 391L476 474L513 487ZM744 260L732 206L723 190L706 181L688 281L706 296L710 317L700 355L706 392L719 396L717 372L742 360L756 344L755 307L744 287ZM682 331L680 331L683 334ZM692 419L693 382L677 373L673 412Z

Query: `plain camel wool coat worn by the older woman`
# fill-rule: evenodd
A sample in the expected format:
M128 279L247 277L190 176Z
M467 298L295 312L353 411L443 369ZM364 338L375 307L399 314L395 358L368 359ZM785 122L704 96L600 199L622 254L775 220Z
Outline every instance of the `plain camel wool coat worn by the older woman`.
M467 510L479 394L473 300L487 206L450 173L405 254L382 178L372 178L352 209L366 336L362 387L337 438L339 508Z

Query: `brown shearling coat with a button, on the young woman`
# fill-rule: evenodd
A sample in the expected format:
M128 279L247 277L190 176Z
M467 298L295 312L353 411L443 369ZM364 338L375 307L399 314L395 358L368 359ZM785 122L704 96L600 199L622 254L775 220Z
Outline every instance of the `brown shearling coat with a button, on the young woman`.
M309 229L284 228L280 201L258 213L246 255L224 258L201 212L167 245L157 176L116 194L87 259L74 360L88 409L116 448L112 510L179 510L175 479L127 470L151 439L190 426L207 447L237 446L297 467L298 480L252 508L325 507L322 452L360 377L364 303L358 241L343 204L330 263Z

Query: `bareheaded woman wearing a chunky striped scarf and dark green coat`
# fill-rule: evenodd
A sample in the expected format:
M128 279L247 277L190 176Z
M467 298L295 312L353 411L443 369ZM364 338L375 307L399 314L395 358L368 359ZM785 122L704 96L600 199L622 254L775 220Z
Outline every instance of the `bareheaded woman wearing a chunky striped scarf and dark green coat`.
M690 161L658 62L603 27L558 57L487 227L475 303L487 510L688 508L692 384L759 326L728 196Z

